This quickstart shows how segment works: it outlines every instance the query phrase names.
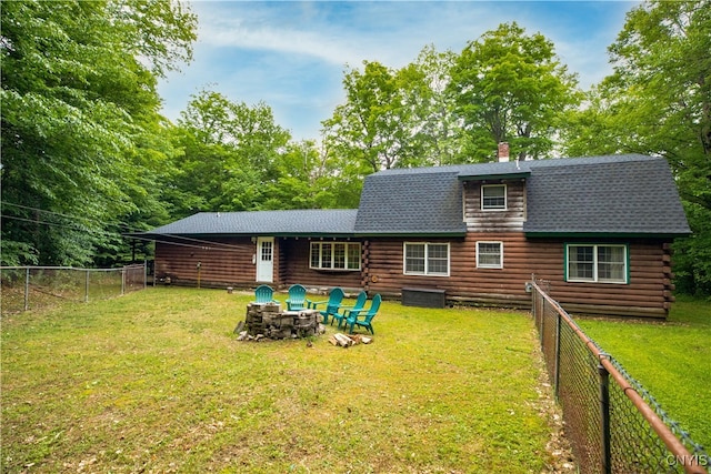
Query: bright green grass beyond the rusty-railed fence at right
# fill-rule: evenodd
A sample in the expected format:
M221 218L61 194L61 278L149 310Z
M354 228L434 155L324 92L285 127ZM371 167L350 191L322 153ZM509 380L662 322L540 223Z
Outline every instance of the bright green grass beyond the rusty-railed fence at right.
M711 304L679 297L663 323L578 319L692 440L711 448Z

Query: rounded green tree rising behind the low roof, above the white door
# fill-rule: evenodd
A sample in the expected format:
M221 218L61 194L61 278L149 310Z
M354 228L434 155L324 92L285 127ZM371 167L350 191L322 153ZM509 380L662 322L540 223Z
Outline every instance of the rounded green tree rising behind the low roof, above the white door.
M208 90L192 97L173 137L182 150L170 184L174 218L262 209L290 140L267 104L249 107Z

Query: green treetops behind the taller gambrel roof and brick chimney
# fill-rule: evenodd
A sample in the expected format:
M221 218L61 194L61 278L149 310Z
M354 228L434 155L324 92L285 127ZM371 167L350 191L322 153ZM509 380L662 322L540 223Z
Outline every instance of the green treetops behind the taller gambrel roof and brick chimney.
M545 158L577 78L541 34L502 24L461 54L424 48L400 70L363 62L346 72L347 102L323 122L342 175L388 168L490 161L499 142L519 158Z

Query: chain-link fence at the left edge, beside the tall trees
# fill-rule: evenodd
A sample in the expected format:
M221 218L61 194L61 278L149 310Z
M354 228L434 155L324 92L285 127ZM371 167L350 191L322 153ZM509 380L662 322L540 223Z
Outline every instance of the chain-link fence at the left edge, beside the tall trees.
M0 266L2 314L39 310L63 301L108 300L146 288L146 264L120 269Z

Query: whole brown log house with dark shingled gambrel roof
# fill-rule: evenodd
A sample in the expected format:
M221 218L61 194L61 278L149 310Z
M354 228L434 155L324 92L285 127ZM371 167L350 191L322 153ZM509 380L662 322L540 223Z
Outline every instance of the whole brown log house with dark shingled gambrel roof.
M667 161L628 154L384 170L356 210L202 212L141 236L178 284L529 306L534 276L571 312L665 317L689 233Z

